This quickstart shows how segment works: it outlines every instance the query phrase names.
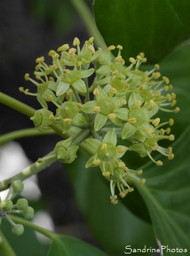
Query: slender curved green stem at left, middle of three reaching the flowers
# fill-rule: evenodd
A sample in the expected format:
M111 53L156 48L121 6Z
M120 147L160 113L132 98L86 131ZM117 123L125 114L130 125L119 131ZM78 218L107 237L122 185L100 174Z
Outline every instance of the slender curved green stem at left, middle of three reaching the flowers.
M7 134L3 134L0 136L0 145L3 145L4 143L7 143L8 141L11 141L11 140L16 140L18 138L47 135L47 134L54 134L54 132L52 131L40 132L36 130L36 128L22 129L19 131L9 132Z

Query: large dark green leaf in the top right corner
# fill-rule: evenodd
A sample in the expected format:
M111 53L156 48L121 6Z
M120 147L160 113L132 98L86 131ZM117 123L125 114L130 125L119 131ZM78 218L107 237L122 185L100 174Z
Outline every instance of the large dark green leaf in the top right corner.
M95 21L106 44L122 45L125 60L145 52L161 61L190 38L189 0L95 0Z

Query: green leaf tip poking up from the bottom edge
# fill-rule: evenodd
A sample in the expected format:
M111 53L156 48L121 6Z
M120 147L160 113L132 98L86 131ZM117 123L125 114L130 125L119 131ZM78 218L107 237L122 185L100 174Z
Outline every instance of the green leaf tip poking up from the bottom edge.
M106 256L106 253L91 246L88 243L84 243L79 239L68 236L54 236L50 245L47 256Z

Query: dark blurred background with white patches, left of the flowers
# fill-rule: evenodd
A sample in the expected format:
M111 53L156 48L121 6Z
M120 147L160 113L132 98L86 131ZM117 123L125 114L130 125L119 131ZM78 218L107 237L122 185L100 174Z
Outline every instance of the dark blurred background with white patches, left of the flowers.
M86 0L90 8L91 2ZM90 37L81 18L68 0L10 0L8 3L1 1L1 92L35 109L41 108L35 97L19 92L20 86L35 92L33 84L24 80L24 74L29 73L32 77L36 58L45 56L47 63L48 61L50 63L48 52L51 49L58 49L63 44L72 45L75 36L82 44ZM33 122L27 116L3 104L0 104L0 109L0 134L33 127ZM56 135L37 136L22 138L1 147L1 180L10 177L14 172L20 172L38 157L49 153L58 141L59 137ZM36 221L43 224L47 219L47 228L54 228L62 234L69 234L93 243L83 216L77 209L64 169L65 166L61 163L52 164L38 174L37 179L33 177L29 181L23 196L29 198L31 204L37 205L38 212L45 210L49 212L50 216L43 215L42 221L41 219Z

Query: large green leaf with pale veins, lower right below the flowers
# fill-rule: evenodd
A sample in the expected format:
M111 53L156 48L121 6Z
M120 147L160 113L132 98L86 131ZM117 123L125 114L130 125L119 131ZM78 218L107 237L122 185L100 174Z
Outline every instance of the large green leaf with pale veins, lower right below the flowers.
M137 188L143 196L163 246L190 250L190 125L175 143L175 159L158 170L146 164L146 184ZM164 255L171 255L164 252ZM178 255L177 252L172 255ZM184 254L185 255L185 254Z

